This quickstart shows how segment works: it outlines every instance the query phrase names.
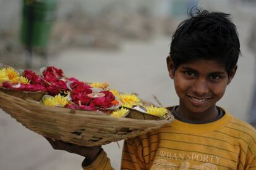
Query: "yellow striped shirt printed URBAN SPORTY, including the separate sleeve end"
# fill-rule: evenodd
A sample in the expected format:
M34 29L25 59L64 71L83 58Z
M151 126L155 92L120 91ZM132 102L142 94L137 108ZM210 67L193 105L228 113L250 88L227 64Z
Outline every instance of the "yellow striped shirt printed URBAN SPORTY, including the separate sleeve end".
M83 169L113 169L106 153ZM174 120L125 140L121 169L256 169L256 131L229 113L217 121Z

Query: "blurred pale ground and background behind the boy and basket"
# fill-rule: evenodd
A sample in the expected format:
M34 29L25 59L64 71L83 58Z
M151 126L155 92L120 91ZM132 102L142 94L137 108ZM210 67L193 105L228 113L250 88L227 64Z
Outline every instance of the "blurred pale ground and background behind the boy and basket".
M34 71L53 65L67 76L177 105L165 60L171 34L193 6L233 16L242 57L218 105L248 122L256 79L254 0L0 0L0 63ZM116 143L103 148L119 169L122 149ZM0 169L82 169L82 160L53 150L0 110Z

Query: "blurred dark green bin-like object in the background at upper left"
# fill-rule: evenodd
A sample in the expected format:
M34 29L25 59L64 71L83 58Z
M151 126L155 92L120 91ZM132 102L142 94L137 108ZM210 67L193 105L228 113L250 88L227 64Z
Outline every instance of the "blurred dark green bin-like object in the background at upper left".
M47 48L56 6L56 0L23 0L20 39L28 51Z

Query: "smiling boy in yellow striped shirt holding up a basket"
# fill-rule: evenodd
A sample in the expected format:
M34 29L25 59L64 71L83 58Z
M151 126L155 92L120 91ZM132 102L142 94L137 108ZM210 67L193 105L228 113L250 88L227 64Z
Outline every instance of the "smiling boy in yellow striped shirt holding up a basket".
M121 169L256 169L255 129L215 105L236 73L239 54L228 14L190 11L167 57L179 96L179 105L169 108L176 119L126 140ZM84 169L112 169L101 147L48 140L53 148L85 156Z

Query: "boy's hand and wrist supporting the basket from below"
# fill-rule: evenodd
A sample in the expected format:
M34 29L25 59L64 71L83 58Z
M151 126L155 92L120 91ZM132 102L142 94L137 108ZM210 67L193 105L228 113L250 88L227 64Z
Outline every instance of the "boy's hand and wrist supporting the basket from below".
M55 150L66 150L70 153L75 153L77 155L81 155L85 157L83 164L88 165L93 163L93 161L97 158L101 151L101 146L96 147L83 147L75 144L70 144L66 142L62 142L61 140L54 140L48 137L45 137L48 140L49 144Z

